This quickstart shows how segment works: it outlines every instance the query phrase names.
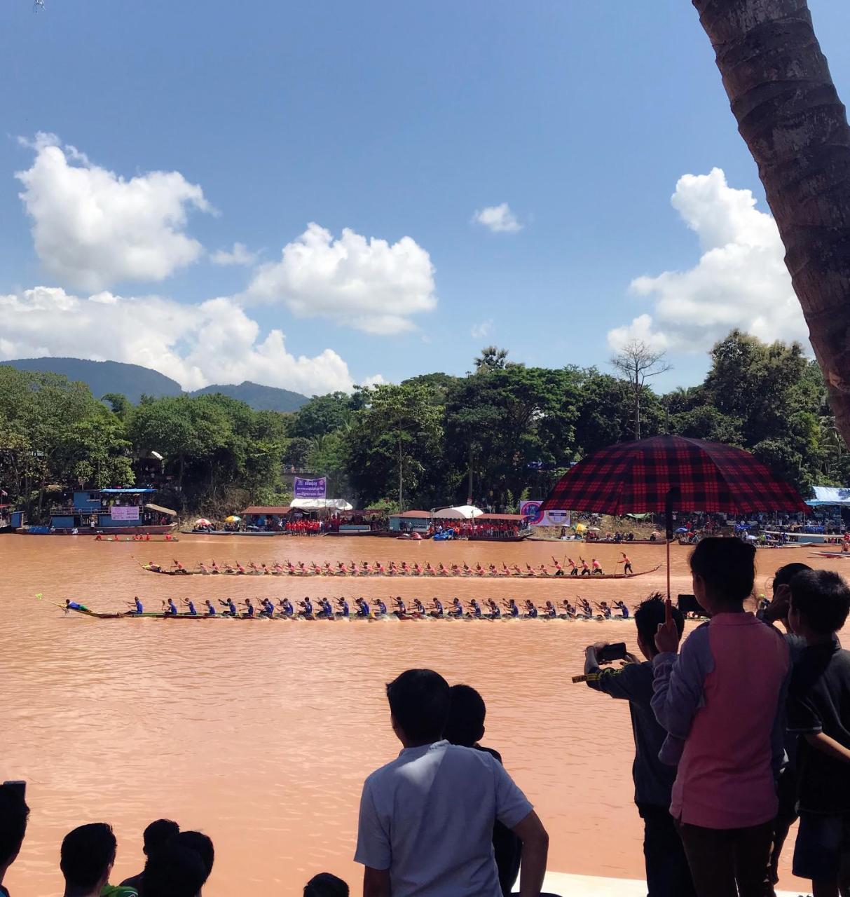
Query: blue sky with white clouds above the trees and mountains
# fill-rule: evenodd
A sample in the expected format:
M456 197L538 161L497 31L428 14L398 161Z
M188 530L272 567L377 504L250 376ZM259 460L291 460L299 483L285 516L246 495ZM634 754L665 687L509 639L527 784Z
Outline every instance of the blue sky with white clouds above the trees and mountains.
M850 4L811 9L846 100ZM637 334L672 387L732 326L805 335L687 0L7 0L0 33L0 357L314 392Z

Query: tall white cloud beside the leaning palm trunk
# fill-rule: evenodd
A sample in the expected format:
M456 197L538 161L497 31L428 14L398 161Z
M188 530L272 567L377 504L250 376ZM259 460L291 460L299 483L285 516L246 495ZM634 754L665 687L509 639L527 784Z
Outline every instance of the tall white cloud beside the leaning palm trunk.
M724 172L686 174L672 206L699 237L702 256L684 271L637 277L630 289L653 300L652 316L609 331L619 348L629 336L680 352L703 352L733 327L763 340L808 340L785 268L776 222L756 209L750 190L729 187Z

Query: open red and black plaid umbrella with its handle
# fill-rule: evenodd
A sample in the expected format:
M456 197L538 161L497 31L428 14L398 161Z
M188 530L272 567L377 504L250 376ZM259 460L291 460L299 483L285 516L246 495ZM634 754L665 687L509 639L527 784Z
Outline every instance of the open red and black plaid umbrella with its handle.
M806 511L793 486L742 448L684 436L623 442L579 461L562 476L542 510L597 514L661 513L667 518L667 593L673 510L751 514Z

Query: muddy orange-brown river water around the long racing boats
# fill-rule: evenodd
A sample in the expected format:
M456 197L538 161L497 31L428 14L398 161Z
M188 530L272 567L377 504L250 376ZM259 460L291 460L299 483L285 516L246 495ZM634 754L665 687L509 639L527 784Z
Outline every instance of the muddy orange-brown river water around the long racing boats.
M123 609L165 597L439 596L622 598L664 588L664 568L629 581L287 579L156 576L149 560L409 563L551 562L568 543L406 543L375 538L182 536L178 544L96 543L88 536L0 537L4 645L3 779L26 779L32 810L15 897L61 892L59 844L75 825L111 823L117 882L142 865L144 826L160 816L210 834L208 897L299 893L331 871L360 893L353 855L360 786L400 745L384 684L411 666L472 684L488 705L484 744L502 753L551 834L550 868L642 875L624 704L570 683L595 640L626 640L631 623L288 623L91 620L52 602ZM585 549L588 546L584 546ZM594 549L603 568L617 546ZM672 548L672 591L690 592L687 549ZM585 556L591 554L585 551ZM635 570L664 562L634 545ZM588 557L589 560L589 557ZM757 589L807 549L759 552ZM847 562L850 567L850 562ZM41 597L37 597L40 595ZM785 869L785 884L792 880ZM260 893L258 891L258 893Z

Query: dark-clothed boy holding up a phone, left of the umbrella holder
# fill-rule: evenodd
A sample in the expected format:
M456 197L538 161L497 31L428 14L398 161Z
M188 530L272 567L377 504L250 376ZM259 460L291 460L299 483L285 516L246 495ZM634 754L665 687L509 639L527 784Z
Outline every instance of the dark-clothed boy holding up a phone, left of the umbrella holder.
M685 620L678 607L671 608L672 619L681 636ZM648 897L690 897L694 886L688 860L682 849L670 814L670 800L676 767L658 758L666 732L658 724L652 710L652 660L658 654L655 632L664 623L664 600L661 595L648 597L635 611L637 647L646 661L641 663L633 655L618 669L601 670L596 652L606 647L597 642L585 651L585 675L598 676L587 684L611 698L629 701L631 730L635 739L635 761L631 773L635 782L637 813L644 821L644 861Z

